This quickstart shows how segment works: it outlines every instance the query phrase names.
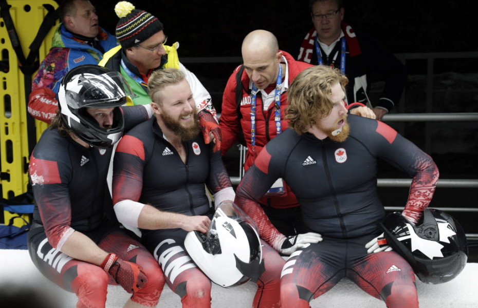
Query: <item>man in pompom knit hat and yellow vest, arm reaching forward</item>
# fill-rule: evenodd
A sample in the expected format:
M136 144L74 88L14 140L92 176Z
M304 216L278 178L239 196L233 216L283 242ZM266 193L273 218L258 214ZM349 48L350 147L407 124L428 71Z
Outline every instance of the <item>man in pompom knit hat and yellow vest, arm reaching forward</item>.
M164 68L181 70L193 92L205 141L214 141L214 150L219 150L221 135L211 95L197 77L179 62L176 51L179 43L164 45L168 37L164 34L163 24L151 13L136 9L129 2L119 2L115 12L119 17L116 38L120 46L106 52L100 65L121 72L137 95L133 99L134 105L151 103L148 79L153 71Z

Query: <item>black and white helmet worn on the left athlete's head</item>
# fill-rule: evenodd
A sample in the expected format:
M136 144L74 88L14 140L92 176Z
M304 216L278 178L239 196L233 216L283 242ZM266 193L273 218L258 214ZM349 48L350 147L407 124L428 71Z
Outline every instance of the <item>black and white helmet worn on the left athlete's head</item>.
M133 91L119 72L98 65L77 66L64 76L58 91L58 108L66 125L91 146L107 148L121 138L123 114L113 109L113 127L101 128L86 108L124 105Z

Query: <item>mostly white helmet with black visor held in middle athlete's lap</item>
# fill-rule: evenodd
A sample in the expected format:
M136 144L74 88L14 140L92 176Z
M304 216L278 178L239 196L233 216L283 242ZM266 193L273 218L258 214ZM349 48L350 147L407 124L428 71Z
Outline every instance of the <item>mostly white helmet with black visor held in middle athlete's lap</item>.
M257 281L265 270L257 227L233 203L219 205L209 232L189 232L184 244L201 271L223 287Z

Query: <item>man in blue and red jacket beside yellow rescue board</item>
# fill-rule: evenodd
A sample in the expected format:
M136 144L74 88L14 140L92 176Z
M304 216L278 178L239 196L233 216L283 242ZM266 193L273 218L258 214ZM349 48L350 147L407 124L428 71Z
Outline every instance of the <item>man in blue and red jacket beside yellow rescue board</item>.
M65 0L51 49L40 64L31 84L28 112L51 123L57 114L57 93L63 76L83 64L98 64L103 53L116 45L115 36L98 24L96 9L88 0Z

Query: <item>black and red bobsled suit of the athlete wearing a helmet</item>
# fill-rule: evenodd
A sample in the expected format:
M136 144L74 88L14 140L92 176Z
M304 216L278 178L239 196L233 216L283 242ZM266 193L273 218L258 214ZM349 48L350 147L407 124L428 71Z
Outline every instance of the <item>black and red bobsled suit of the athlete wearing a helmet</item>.
M143 106L122 107L125 128L148 119ZM73 259L61 247L73 232L81 232L100 248L144 269L148 283L132 300L156 306L164 286L157 262L137 240L105 216L112 201L106 176L113 147L85 148L57 129L47 129L30 158L29 174L35 208L28 233L30 257L43 275L78 296L77 307L104 307L107 284L103 268Z

